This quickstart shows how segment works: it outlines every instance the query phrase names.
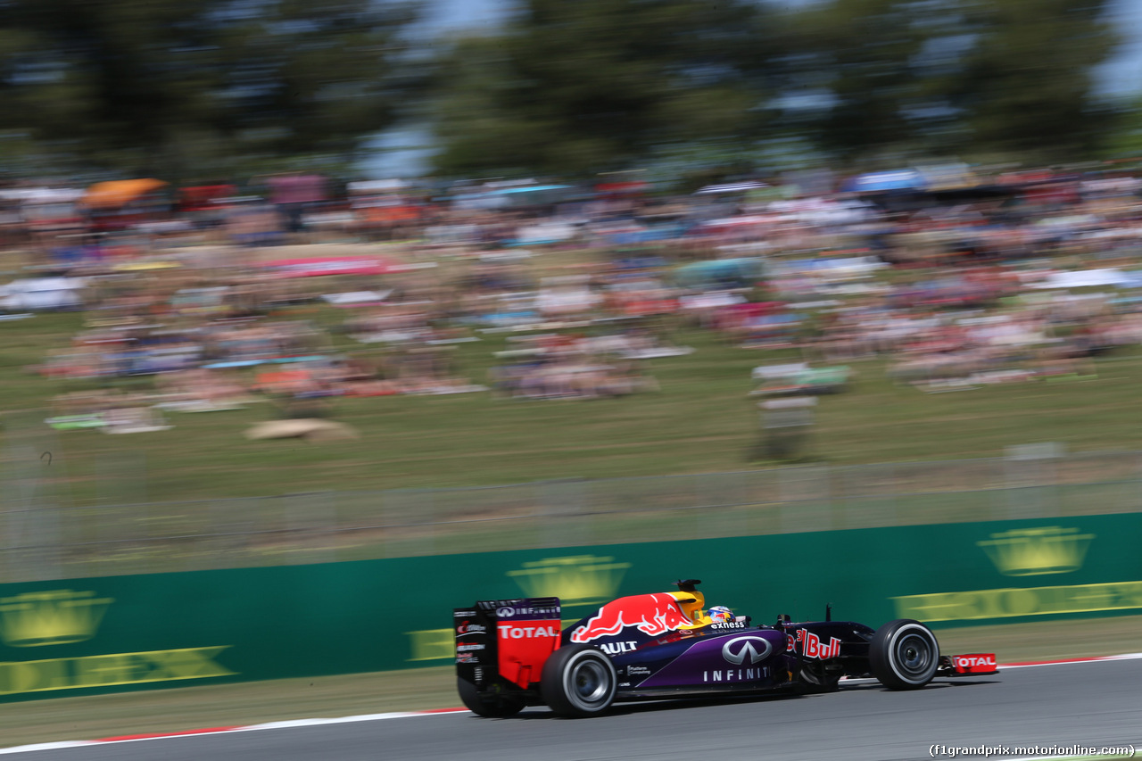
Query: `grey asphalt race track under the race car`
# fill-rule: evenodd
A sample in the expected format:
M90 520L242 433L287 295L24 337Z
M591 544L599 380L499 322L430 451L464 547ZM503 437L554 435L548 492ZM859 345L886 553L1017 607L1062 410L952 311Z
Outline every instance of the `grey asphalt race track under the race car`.
M893 692L871 681L838 692L616 706L565 720L546 708L352 721L39 750L29 761L611 761L694 758L895 761L944 746L1128 746L1142 751L1142 659L1005 670ZM1048 747L1049 750L1049 747ZM1040 755L1040 754L1034 754ZM1043 755L1048 755L1045 753ZM971 758L971 756L959 756Z

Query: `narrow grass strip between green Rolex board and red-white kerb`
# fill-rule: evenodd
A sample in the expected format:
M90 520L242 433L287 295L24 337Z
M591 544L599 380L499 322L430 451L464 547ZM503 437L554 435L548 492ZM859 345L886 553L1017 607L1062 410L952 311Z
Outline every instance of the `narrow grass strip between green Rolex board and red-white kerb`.
M1121 616L936 630L936 636L946 654L995 651L1000 663L1019 663L1135 651L1140 625L1142 616ZM459 704L451 666L55 698L5 704L0 747Z

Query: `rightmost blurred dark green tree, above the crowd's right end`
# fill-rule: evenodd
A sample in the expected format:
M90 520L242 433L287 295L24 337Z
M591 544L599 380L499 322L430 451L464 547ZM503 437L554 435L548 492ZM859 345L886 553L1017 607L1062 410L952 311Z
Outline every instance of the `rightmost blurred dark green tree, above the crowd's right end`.
M797 16L791 80L822 94L801 126L842 159L1073 161L1107 127L1094 67L1104 0L833 0Z

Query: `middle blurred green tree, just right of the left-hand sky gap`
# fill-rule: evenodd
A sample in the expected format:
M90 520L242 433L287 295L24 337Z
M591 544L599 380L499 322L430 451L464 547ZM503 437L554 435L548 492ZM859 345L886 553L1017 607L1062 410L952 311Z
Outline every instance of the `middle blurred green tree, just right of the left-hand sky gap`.
M748 142L764 121L758 6L525 0L442 58L435 162L447 174L587 175L656 147Z

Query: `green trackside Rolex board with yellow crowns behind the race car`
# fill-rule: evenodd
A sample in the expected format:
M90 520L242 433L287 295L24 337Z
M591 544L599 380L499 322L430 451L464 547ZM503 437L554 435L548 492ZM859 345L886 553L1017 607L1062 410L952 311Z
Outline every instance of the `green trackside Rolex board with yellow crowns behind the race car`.
M6 584L0 702L449 665L457 606L557 596L569 623L678 578L755 623L1136 614L1139 536L1117 514Z

